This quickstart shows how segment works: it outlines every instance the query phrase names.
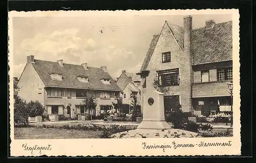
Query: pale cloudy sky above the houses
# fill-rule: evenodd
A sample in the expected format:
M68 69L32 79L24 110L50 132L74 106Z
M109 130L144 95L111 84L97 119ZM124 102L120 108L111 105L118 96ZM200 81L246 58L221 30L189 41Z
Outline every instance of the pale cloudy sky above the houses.
M230 21L231 15L191 15L193 29L206 20ZM20 77L27 56L89 67L107 66L114 78L121 70L139 72L153 35L167 20L183 26L184 15L112 15L82 17L13 17L14 76Z

